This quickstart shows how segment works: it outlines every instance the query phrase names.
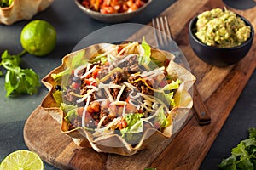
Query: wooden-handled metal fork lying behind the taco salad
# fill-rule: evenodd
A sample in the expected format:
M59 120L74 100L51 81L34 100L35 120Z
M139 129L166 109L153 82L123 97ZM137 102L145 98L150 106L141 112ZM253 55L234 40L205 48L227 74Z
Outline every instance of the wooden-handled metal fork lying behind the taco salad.
M172 47L175 45L173 42L172 31L166 16L152 19L152 25L154 27L154 37L156 39L158 48L166 50L172 53ZM172 53L173 54L173 53ZM175 62L184 66L183 58L176 56ZM189 65L187 65L189 66ZM187 67L186 66L186 67ZM188 67L187 67L188 68ZM204 105L201 95L199 94L195 84L193 86L193 100L195 118L200 125L207 125L211 122L211 117L208 116L207 107Z

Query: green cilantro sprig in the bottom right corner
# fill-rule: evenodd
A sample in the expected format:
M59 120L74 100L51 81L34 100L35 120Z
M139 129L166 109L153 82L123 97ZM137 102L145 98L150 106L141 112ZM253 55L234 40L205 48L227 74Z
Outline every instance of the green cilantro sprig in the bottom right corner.
M256 128L248 129L249 138L244 139L231 150L231 156L221 161L220 169L255 170L256 169Z

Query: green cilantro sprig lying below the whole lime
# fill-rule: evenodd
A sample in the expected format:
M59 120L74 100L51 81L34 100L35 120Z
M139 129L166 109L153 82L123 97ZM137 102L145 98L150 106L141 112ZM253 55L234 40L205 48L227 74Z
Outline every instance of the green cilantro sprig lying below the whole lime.
M5 84L6 96L11 94L37 94L38 87L41 86L39 77L32 69L20 68L21 56L26 54L26 51L22 51L18 55L11 55L5 50L1 56L2 61L0 66L5 68ZM0 71L0 76L3 76L3 72Z

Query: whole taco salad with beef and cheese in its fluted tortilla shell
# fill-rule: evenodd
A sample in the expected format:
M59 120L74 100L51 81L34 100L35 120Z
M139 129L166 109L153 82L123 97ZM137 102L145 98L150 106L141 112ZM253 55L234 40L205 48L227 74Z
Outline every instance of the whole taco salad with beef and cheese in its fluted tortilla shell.
M195 77L173 58L144 39L80 49L44 77L41 106L79 146L134 155L170 139L193 105Z

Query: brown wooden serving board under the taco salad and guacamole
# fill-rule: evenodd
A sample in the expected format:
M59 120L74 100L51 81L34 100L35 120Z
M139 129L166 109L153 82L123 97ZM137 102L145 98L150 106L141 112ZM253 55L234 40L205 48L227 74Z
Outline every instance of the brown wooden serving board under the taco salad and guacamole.
M189 20L204 10L217 7L224 8L224 3L217 0L179 0L160 14L168 17L173 37L197 78L195 83L210 111L211 124L199 126L193 116L174 139L166 140L153 150L142 150L134 156L117 156L97 153L90 148L79 148L72 139L61 133L59 123L38 106L24 127L27 147L37 152L44 161L61 169L198 169L256 64L255 36L253 47L236 65L219 68L207 65L195 56L189 46ZM243 11L230 9L251 21L255 30L256 8Z

